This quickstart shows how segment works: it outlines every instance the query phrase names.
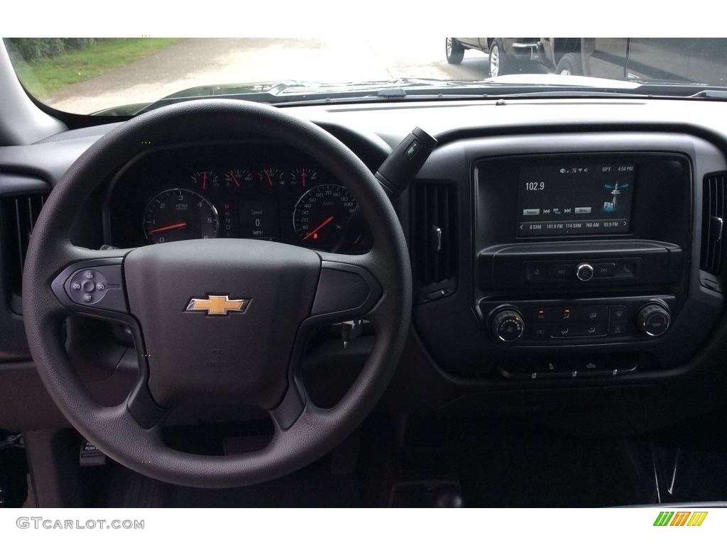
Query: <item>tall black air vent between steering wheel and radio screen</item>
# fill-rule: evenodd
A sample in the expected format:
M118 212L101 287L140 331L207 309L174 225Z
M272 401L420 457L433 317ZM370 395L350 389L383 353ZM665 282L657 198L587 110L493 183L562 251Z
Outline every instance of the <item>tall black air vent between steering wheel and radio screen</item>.
M414 185L414 270L419 302L441 299L457 287L457 190Z

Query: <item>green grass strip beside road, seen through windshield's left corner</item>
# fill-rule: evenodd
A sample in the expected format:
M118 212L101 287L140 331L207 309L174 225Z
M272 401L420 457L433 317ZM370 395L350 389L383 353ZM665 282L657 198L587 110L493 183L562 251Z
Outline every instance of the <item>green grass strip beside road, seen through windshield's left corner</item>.
M15 62L17 77L38 98L87 81L176 44L181 38L119 38L49 59Z

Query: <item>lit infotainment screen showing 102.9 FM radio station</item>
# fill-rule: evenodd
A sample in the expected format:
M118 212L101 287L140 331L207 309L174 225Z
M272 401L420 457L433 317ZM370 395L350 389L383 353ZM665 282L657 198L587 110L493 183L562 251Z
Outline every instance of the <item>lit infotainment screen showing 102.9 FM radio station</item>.
M629 233L632 163L523 166L518 237Z

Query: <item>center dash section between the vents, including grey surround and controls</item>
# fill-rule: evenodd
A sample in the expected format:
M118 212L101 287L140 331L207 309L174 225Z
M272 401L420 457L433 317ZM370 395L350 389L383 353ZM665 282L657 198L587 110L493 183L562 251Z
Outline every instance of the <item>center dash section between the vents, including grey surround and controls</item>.
M457 186L472 229L459 262L466 296L420 304L415 323L449 374L608 387L683 365L707 341L722 296L704 267L702 223L712 220L701 182L726 166L710 142L648 131L507 135L453 143L444 155L469 166L471 185ZM438 178L446 167L430 168ZM445 334L434 312L451 316Z

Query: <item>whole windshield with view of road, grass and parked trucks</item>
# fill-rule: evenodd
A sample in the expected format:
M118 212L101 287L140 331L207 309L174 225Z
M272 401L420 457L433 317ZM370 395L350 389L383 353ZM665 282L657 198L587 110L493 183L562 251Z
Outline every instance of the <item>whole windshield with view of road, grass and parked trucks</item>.
M206 96L292 103L534 92L704 97L727 89L721 38L12 38L4 44L33 97L57 110L97 115L134 115Z

